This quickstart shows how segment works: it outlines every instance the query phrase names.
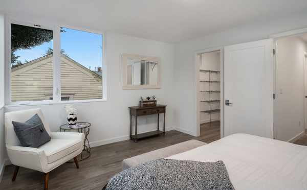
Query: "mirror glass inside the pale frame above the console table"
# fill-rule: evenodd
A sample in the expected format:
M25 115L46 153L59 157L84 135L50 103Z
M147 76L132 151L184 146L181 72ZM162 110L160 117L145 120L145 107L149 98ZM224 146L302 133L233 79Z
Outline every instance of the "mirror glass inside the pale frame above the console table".
M126 70L127 85L158 85L158 62L127 58Z

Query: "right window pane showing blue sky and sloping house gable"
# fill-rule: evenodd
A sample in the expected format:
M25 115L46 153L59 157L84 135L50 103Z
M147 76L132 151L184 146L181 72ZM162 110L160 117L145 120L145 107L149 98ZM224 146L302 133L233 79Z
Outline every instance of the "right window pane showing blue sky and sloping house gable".
M102 35L68 28L61 31L61 96L102 99Z

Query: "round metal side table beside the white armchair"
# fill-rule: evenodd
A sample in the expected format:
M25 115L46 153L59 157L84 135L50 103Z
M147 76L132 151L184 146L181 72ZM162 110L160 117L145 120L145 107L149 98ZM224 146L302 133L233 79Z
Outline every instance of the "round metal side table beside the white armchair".
M60 132L78 130L79 133L84 133L85 138L83 143L83 151L81 152L80 157L78 156L78 161L85 160L91 156L90 141L87 138L91 131L90 127L91 124L87 122L77 122L75 125L63 124L60 126Z

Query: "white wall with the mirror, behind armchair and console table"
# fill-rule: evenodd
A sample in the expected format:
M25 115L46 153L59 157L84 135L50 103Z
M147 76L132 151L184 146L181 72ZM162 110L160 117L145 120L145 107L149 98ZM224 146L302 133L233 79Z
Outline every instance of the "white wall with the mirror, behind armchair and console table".
M140 54L160 57L162 67L161 89L123 90L121 86L121 54ZM129 111L128 106L136 106L140 96L155 94L159 104L167 105L166 129L172 129L173 123L173 63L174 45L164 42L130 37L115 33L106 33L107 63L107 101L76 103L78 121L92 123L90 132L91 146L98 146L128 139ZM64 104L6 107L5 111L41 108L52 131L57 131L61 124L67 123ZM160 117L160 126L163 124ZM139 132L155 130L157 115L138 118Z

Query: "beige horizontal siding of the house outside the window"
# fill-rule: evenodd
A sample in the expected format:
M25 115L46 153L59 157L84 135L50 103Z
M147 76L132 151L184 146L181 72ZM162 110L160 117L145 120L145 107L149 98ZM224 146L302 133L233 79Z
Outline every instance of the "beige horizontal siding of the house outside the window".
M61 96L101 99L102 77L61 56ZM53 95L53 59L46 56L12 69L11 101L49 100Z

